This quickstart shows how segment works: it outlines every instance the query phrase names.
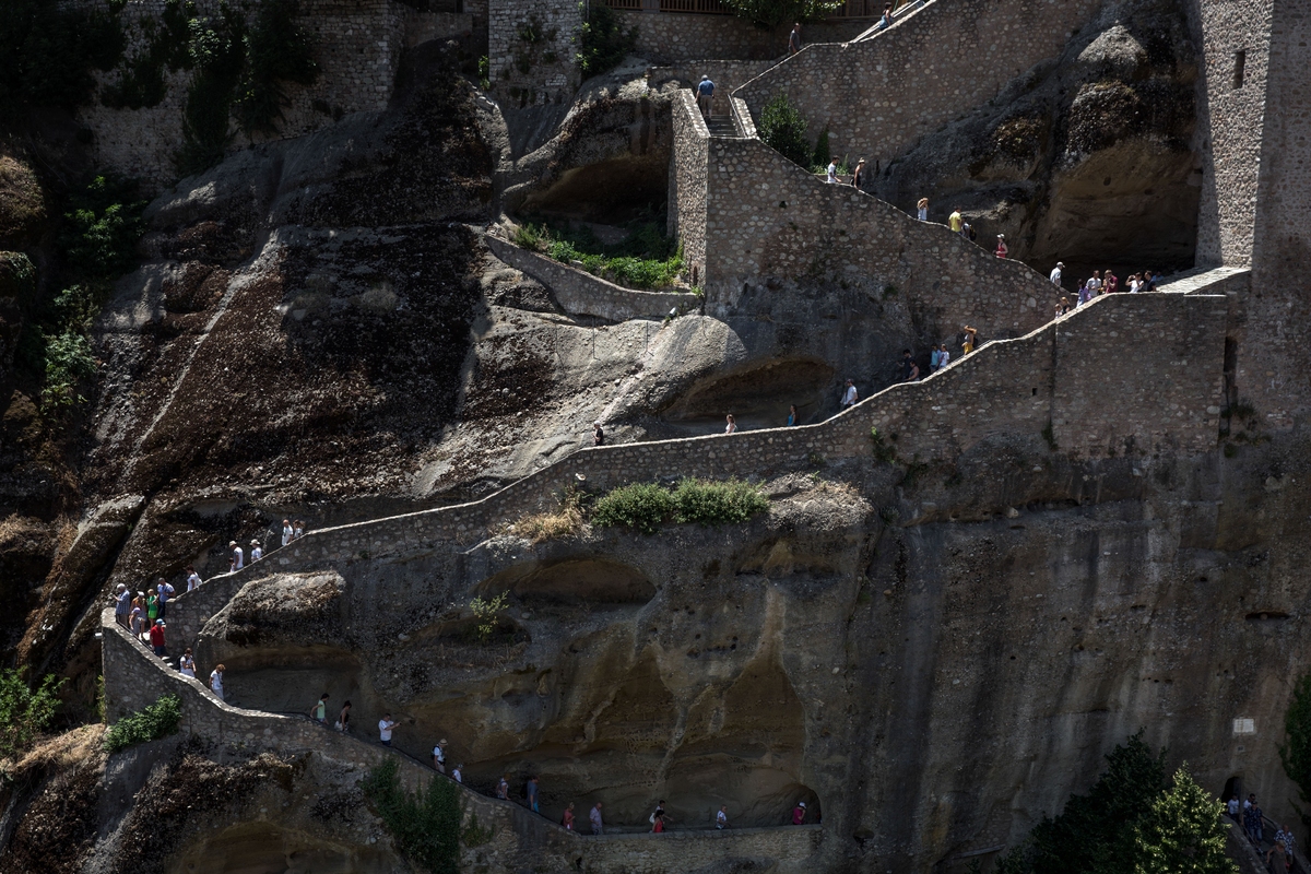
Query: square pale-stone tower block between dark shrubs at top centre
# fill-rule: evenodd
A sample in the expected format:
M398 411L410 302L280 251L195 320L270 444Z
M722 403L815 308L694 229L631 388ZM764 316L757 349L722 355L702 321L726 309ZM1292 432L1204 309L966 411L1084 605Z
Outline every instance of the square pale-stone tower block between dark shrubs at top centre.
M488 63L497 100L520 107L573 100L579 28L582 12L573 0L489 4Z

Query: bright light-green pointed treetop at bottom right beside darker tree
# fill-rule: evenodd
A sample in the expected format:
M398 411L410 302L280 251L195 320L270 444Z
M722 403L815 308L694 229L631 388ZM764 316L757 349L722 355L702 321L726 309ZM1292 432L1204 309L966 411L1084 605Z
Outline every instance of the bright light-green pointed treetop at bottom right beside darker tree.
M1223 810L1180 765L1134 827L1134 874L1238 874L1224 854Z

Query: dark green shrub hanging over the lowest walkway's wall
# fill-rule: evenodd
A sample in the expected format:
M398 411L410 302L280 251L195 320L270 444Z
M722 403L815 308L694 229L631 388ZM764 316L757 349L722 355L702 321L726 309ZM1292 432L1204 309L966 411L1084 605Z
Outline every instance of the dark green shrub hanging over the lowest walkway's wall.
M363 790L405 858L431 874L459 874L463 811L452 781L434 777L427 789L412 794L401 786L396 760L388 757L368 773Z

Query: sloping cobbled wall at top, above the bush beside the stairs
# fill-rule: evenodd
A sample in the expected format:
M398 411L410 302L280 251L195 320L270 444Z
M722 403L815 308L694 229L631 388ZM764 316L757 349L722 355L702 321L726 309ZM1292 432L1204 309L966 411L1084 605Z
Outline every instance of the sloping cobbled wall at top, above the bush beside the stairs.
M785 93L834 155L869 165L996 96L1054 58L1101 0L933 0L850 45L812 43L738 93L753 115Z

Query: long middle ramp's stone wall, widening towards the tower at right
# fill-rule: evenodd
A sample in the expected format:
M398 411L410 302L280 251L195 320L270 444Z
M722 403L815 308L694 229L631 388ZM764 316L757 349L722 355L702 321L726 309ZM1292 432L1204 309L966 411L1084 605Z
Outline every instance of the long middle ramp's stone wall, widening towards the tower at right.
M770 477L805 469L815 453L873 463L871 427L897 434L898 452L918 453L922 463L952 461L995 436L1038 438L1049 423L1059 451L1076 457L1207 452L1219 426L1228 300L1218 295L1100 297L821 425L585 448L482 501L312 531L254 566L178 596L170 620L198 629L241 584L274 571L321 570L435 544L467 549L551 506L569 485L604 490L686 476ZM178 618L184 615L189 620Z

